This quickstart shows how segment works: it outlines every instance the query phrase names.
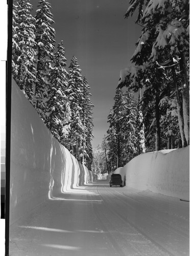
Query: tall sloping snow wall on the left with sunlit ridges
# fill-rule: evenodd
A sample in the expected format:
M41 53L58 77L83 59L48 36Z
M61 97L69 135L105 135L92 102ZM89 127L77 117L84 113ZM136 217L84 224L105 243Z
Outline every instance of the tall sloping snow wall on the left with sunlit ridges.
M84 189L92 172L46 128L12 79L10 225L47 199Z

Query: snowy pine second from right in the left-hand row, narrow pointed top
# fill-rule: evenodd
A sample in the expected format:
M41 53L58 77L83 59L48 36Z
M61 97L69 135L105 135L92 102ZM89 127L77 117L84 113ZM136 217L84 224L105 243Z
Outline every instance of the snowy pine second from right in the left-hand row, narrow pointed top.
M78 149L83 135L82 124L82 75L78 60L73 56L69 66L67 93L69 94L70 110L72 112L67 148L79 160Z

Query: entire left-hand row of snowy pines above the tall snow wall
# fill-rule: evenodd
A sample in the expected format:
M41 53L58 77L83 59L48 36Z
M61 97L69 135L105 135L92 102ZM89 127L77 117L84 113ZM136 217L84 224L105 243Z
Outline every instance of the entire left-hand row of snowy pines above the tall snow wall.
M91 169L93 104L90 87L73 56L66 71L63 41L55 49L51 5L13 2L12 75L55 138Z

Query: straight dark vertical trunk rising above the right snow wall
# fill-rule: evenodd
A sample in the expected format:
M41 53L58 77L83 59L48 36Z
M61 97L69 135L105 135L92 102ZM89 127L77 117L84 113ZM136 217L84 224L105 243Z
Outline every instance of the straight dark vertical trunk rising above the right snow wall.
M159 92L156 91L156 104L155 104L155 115L156 115L156 151L161 150L160 146L160 108L159 108Z

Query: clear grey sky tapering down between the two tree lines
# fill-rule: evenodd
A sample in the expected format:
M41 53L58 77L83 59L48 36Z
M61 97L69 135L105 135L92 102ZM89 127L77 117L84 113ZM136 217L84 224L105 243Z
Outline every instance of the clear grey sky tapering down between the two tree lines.
M135 17L125 19L127 0L47 0L52 5L56 43L63 40L67 71L75 55L91 88L93 108L92 147L102 142L107 116L120 78L130 59L141 28ZM31 0L34 11L38 0ZM57 45L56 45L57 46Z

